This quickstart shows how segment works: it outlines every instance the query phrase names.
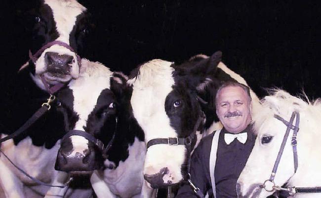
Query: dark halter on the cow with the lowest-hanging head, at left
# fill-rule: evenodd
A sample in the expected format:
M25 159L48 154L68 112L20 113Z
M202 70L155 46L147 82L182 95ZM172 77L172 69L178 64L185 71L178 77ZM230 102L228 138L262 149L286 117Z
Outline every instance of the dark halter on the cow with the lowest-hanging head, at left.
M117 131L117 123L118 123L118 119L116 117L116 126L115 126L115 130L114 130L114 133L113 133L113 137L109 141L108 145L106 145L106 146L99 139L97 139L94 136L92 136L91 134L89 134L89 133L87 133L85 131L81 131L81 130L71 130L71 131L69 131L66 135L64 135L64 137L62 137L61 143L65 139L67 139L67 138L69 138L71 136L81 136L81 137L85 138L86 140L90 141L91 143L93 143L100 151L103 152L103 156L105 158L107 158L105 155L113 145L113 142L114 142L114 139L115 139L115 135L116 135L116 131Z

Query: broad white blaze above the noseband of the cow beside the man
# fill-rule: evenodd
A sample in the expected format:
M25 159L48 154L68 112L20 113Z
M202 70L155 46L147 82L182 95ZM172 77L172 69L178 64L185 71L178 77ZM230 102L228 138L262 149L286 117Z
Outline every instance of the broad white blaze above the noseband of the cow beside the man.
M159 59L149 61L141 65L138 75L128 82L133 87L131 105L135 118L145 132L153 131L145 134L147 139L160 134L158 130L165 131L164 136L175 136L164 107L175 85L171 64Z

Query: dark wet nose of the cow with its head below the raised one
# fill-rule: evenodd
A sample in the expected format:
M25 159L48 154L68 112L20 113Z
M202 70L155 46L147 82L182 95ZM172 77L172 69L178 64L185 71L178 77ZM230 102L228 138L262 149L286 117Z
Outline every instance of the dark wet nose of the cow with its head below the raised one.
M97 163L96 153L88 149L83 153L67 154L63 149L59 149L55 169L65 172L85 172L100 168ZM84 173L83 172L83 173Z

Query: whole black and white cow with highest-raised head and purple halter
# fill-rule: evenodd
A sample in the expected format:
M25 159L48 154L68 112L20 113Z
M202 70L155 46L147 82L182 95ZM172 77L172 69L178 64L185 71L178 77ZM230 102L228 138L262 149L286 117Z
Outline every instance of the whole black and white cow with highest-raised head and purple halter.
M27 121L46 102L48 92L57 91L55 85L79 77L77 52L88 23L86 8L76 0L41 0L31 13L35 24L30 60L5 88L1 138ZM64 135L63 116L54 106L23 134L0 144L17 166L46 183L66 177L54 170L59 140ZM36 184L14 168L2 154L0 172L0 185L8 198L43 197L48 191L48 187Z

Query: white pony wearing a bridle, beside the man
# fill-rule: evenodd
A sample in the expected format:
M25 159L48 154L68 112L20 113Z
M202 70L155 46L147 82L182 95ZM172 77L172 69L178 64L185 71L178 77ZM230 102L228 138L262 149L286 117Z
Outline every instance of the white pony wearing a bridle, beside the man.
M274 90L262 100L261 113L253 115L257 139L248 161L241 172L237 190L239 198L266 198L274 192L273 186L321 186L321 99L314 102L291 96L285 91ZM289 122L292 112L299 113L297 134L298 167L295 172L291 146L293 130L289 132L280 164L269 180L283 141L287 126L275 114ZM295 126L296 119L292 125ZM268 192L266 190L271 190ZM296 198L320 198L321 193L295 194Z

